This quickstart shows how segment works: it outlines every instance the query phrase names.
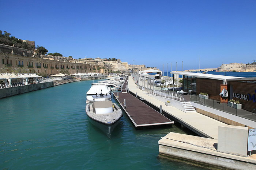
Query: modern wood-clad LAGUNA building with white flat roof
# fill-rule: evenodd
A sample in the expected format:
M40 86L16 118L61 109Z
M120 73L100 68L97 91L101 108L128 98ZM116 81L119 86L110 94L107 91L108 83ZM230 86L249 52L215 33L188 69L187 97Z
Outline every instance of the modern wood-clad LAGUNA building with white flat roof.
M241 78L193 72L172 72L172 74L183 76L183 91L189 93L190 101L196 106L206 106L208 108L204 110L211 110L211 113L218 110L256 121L256 77ZM226 97L221 95L224 88L227 91ZM208 96L199 97L201 92ZM229 102L230 99L239 101L241 109L234 107L236 105L231 106L230 104L233 103Z

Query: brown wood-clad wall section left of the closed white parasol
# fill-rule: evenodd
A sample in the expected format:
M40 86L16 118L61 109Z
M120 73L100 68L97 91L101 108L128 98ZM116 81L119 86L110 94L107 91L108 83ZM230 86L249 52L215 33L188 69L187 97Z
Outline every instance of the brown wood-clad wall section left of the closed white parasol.
M219 94L221 93L222 80L214 79L196 79L196 94L199 95L200 92L208 93L209 99L214 99L220 101Z

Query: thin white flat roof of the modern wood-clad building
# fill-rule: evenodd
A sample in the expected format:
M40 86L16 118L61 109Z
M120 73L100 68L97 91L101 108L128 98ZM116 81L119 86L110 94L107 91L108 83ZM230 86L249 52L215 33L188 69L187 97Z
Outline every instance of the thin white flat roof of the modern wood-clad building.
M215 74L203 74L203 73L195 73L195 72L171 72L171 74L178 74L184 76L193 76L199 78L207 78L207 79L216 79L216 80L236 80L241 79L244 77L234 77L234 76L222 76L222 75L215 75Z

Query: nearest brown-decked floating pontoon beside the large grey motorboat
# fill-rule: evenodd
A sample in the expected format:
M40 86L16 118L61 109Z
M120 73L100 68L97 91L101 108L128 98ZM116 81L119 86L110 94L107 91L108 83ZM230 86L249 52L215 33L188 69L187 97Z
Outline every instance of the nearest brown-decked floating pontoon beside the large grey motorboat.
M113 94L115 97L117 96L116 92ZM173 121L155 111L135 96L129 93L118 93L118 95L118 102L124 108L136 129L138 129L137 127L160 127L173 124ZM124 99L126 107L124 106Z

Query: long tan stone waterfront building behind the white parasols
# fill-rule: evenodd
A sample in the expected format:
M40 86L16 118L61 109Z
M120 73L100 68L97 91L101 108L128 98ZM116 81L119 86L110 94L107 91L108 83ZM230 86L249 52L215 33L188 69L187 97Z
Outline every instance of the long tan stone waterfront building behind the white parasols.
M36 51L0 44L0 72L36 72L54 75L61 70L69 74L99 72L108 74L103 62L90 62L60 56L42 56ZM23 54L22 54L23 51Z

